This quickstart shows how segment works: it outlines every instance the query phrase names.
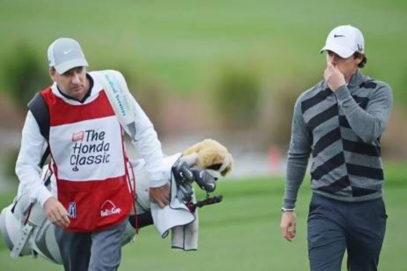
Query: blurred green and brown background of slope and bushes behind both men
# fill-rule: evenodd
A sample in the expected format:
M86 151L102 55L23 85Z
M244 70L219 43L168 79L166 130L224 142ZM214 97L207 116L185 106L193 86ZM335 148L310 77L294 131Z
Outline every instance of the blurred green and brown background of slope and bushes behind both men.
M2 127L51 83L46 49L78 40L90 70L122 71L160 138L220 136L284 153L298 95L322 79L319 54L339 24L361 29L363 72L390 83L395 107L384 153L405 159L405 1L1 1ZM12 122L12 124L10 124ZM4 129L3 129L4 130ZM213 132L216 131L216 132ZM228 142L225 142L228 144ZM7 144L9 145L9 144Z

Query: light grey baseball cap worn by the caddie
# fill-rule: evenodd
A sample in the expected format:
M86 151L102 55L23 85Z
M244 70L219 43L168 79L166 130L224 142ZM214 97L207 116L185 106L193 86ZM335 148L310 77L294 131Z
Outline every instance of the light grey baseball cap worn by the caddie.
M75 67L88 67L88 62L77 41L70 38L56 39L48 47L48 64L63 74Z

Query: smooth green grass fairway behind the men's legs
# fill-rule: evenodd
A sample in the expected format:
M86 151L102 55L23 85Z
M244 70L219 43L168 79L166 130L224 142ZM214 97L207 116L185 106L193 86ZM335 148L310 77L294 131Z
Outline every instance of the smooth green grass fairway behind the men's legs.
M386 167L385 200L389 215L380 270L405 270L407 169ZM306 215L310 192L304 181L298 202L298 235L288 243L279 232L282 179L244 179L220 182L224 201L199 210L199 250L172 252L170 239L161 239L153 226L140 231L135 243L123 249L120 270L308 270ZM0 206L13 193L0 195ZM43 259L9 258L0 240L0 270L62 269ZM344 268L343 268L344 270Z

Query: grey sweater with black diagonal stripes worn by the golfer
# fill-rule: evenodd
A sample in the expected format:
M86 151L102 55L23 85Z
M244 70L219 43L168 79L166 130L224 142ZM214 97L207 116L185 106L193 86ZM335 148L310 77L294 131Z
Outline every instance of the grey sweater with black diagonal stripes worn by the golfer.
M393 97L387 83L359 70L336 92L319 82L295 104L284 208L294 208L312 154L311 189L342 201L382 196L380 138Z

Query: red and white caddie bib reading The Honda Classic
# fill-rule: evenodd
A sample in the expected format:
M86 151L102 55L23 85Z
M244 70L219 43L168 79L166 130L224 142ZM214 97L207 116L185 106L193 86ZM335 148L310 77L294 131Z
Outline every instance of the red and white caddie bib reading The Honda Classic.
M82 105L65 102L51 88L40 94L49 109L49 147L57 197L71 221L67 229L94 231L123 221L132 196L122 130L105 92Z

